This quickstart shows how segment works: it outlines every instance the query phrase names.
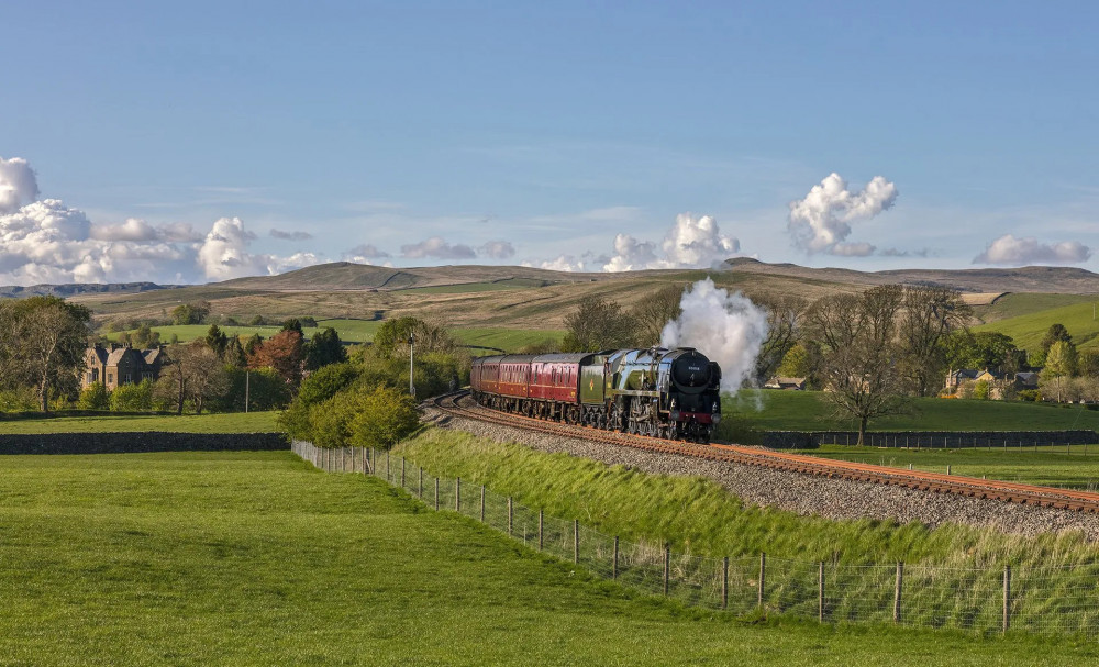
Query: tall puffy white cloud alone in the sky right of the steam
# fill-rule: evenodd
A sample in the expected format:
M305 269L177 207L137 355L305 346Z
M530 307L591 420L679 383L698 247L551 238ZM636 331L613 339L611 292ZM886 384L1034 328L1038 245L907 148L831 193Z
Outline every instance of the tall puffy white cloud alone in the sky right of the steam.
M897 201L897 186L875 176L861 191L847 189L832 173L809 190L804 199L790 202L788 230L793 244L806 253L865 257L874 253L868 243L848 243L851 223L868 220Z

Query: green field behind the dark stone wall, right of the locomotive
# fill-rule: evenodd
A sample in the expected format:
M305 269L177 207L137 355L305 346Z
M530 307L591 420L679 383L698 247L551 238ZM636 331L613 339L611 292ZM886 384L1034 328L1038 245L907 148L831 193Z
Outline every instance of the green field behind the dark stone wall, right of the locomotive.
M836 420L821 391L745 389L722 401L725 424L758 431L857 431L854 420ZM908 414L870 421L870 431L1065 431L1099 429L1099 410L1021 401L920 398Z

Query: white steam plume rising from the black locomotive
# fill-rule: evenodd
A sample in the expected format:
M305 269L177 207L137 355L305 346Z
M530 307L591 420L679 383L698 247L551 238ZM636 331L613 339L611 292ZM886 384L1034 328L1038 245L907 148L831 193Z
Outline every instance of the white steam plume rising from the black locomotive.
M707 278L684 290L682 314L660 334L664 347L693 347L721 366L721 390L735 393L755 370L767 313L740 292Z

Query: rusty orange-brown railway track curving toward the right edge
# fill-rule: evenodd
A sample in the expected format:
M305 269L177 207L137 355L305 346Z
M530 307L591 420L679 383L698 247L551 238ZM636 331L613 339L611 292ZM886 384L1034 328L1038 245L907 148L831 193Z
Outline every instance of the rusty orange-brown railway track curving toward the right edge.
M966 498L998 500L1032 507L1099 514L1099 493L1088 491L1073 491L1034 485L985 480L959 475L899 470L874 464L832 460L741 445L698 445L642 435L599 431L587 426L547 422L540 419L489 410L476 404L469 398L467 391L437 397L432 400L432 403L437 410L454 416L503 426L541 431L552 435L580 437L663 454L678 454L707 460L758 466L801 475L888 485L930 493L946 493L964 496Z

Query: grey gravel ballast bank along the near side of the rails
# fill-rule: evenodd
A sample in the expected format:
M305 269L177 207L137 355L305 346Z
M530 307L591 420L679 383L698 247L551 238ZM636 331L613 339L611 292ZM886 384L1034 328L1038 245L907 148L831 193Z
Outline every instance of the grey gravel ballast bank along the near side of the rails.
M678 454L647 452L581 437L548 435L453 416L435 408L428 408L424 419L439 426L467 431L498 442L514 442L543 452L560 452L659 475L708 477L746 502L776 507L803 515L815 514L828 519L867 518L895 520L900 523L918 521L931 527L944 523L961 523L1020 535L1080 531L1089 541L1099 541L1099 515L1096 514L1011 504L998 500L942 496L899 487L826 479Z

